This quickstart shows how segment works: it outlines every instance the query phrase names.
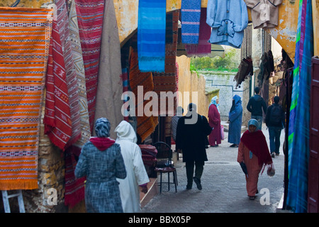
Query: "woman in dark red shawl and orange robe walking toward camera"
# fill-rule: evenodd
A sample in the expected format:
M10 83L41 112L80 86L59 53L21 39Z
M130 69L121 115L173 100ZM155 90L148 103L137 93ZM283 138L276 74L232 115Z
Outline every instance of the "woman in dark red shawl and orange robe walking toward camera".
M261 130L257 129L258 121L250 119L248 130L240 138L237 162L242 169L246 169L246 189L250 199L255 199L258 193L257 184L259 172L264 165L272 164L266 138Z

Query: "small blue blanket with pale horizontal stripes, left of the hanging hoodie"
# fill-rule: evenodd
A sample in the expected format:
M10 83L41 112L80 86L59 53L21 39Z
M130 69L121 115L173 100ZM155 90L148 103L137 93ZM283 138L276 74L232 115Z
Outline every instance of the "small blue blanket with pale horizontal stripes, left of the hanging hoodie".
M201 0L181 0L181 43L198 44Z

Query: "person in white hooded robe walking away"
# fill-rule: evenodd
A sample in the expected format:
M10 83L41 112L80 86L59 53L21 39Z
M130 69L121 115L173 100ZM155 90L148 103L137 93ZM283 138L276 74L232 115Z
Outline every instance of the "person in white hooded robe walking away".
M147 193L147 176L142 152L136 144L137 135L133 127L127 121L121 121L116 127L116 143L121 147L121 154L125 163L127 176L125 179L117 179L120 187L121 201L124 213L140 212L140 188Z

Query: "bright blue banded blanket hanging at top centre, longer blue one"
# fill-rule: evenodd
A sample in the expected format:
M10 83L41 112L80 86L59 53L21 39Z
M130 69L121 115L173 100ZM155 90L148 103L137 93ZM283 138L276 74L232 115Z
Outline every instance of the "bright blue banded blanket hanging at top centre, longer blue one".
M138 67L141 72L164 72L166 0L138 4Z

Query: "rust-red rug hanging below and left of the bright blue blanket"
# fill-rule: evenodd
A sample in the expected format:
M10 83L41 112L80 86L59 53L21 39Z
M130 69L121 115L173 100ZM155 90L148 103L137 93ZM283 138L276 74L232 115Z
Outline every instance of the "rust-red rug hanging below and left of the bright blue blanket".
M138 52L131 48L130 51L130 88L133 94L135 94L135 116L137 116L137 133L140 135L142 141L155 131L155 127L158 124L157 116L138 116L138 106L142 105L144 110L145 105L149 100L142 99L146 92L152 92L154 89L152 72L140 72L138 69ZM143 87L142 102L138 100L138 86ZM141 141L141 142L142 142Z

